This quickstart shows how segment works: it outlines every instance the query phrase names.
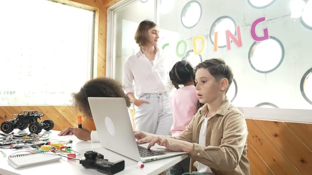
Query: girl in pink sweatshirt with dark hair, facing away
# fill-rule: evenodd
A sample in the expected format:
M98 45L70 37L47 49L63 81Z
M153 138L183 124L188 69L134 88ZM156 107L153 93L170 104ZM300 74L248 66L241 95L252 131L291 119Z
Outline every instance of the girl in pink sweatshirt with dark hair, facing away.
M197 111L198 97L194 86L195 73L189 61L181 60L172 67L169 76L177 88L170 100L174 119L171 133L173 136L178 136L188 126ZM167 175L189 172L189 166L190 158L187 157L170 167Z

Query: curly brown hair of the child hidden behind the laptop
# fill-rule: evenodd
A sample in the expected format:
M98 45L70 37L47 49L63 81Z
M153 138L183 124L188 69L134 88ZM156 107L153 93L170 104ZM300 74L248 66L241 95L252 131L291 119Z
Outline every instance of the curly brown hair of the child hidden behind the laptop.
M77 93L72 93L73 104L84 116L92 119L88 97L123 97L130 106L130 99L124 94L121 84L111 78L98 77L88 80Z

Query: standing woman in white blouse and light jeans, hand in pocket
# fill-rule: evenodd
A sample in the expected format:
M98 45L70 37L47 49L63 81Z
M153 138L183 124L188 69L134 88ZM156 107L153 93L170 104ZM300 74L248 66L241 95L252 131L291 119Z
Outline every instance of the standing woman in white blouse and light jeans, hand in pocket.
M125 61L123 89L136 106L135 130L170 135L173 123L168 92L171 65L164 50L157 46L157 24L141 21L134 39L140 49Z

